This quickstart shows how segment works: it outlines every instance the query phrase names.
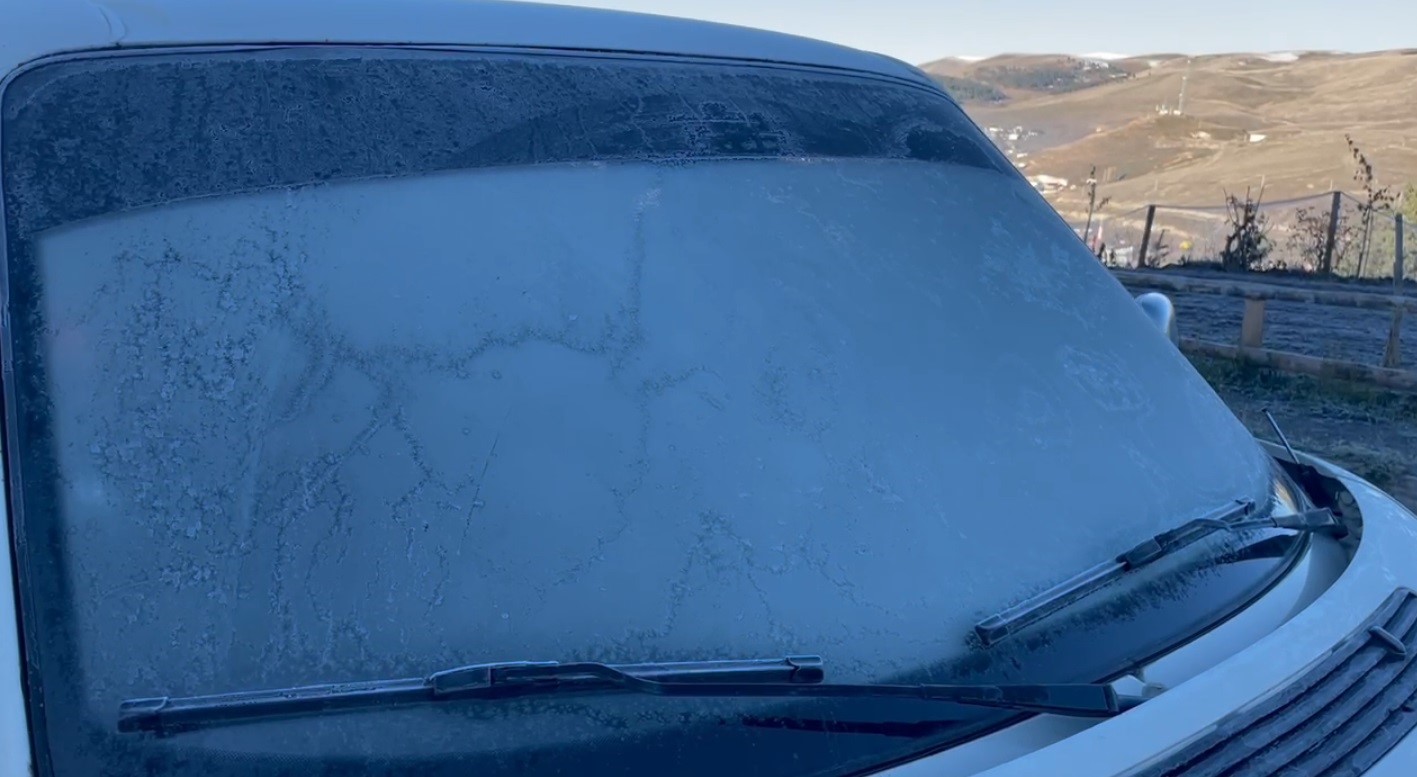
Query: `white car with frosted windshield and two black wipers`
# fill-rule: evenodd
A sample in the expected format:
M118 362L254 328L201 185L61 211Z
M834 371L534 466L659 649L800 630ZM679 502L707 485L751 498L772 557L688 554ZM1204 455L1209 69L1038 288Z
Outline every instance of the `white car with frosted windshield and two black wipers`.
M4 777L1417 768L1417 518L918 69L4 16Z

